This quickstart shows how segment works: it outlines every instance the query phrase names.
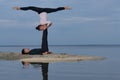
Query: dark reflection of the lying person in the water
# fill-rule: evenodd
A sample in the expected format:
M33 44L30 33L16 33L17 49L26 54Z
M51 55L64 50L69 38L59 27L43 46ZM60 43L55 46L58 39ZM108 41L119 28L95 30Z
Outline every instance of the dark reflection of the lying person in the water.
M43 80L48 80L48 66L49 66L48 63L28 63L28 62L22 62L22 64L23 64L23 68L28 68L30 64L34 68L41 67Z

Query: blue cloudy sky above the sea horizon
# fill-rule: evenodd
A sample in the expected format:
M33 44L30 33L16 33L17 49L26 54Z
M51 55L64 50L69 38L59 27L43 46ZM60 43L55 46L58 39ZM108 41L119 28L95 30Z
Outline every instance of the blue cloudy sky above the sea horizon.
M57 8L48 14L49 45L120 44L120 0L0 0L0 45L39 45L42 31L35 30L39 15L16 11L14 6Z

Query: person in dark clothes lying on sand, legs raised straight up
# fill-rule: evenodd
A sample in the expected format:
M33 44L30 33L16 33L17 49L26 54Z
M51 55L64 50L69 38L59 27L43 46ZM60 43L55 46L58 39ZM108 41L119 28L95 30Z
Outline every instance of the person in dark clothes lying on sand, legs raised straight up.
M30 55L50 54L50 52L48 52L49 49L48 49L47 36L48 36L48 30L46 29L43 31L41 48L40 49L32 49L32 50L30 50L29 48L24 48L22 50L22 54L30 54Z

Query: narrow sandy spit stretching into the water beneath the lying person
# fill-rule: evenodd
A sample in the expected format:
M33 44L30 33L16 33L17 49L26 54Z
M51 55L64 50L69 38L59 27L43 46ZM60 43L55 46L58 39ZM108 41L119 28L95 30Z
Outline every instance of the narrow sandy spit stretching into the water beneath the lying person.
M47 55L22 55L21 53L0 52L0 60L20 60L25 62L74 62L74 61L90 61L104 60L101 56L71 55L67 53L53 53Z

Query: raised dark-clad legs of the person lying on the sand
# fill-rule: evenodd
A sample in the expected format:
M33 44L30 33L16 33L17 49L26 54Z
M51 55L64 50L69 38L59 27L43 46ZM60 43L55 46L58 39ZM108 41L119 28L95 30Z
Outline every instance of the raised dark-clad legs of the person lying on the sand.
M48 40L47 40L47 36L48 36L48 30L45 29L43 31L43 35L42 35L42 45L41 45L41 49L43 52L48 52L49 49L48 49Z

